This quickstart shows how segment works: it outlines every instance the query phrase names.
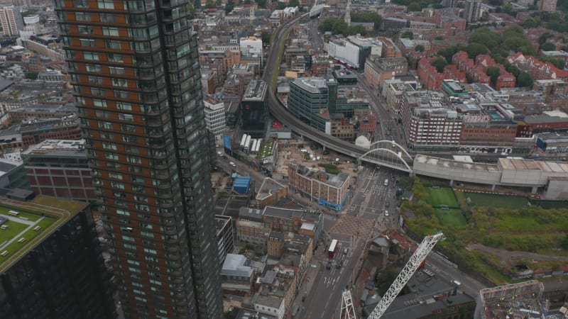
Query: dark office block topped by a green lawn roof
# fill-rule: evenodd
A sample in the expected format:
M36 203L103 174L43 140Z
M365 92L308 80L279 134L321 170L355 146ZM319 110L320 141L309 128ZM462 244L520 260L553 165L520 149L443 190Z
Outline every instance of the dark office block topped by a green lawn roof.
M0 317L116 318L87 203L0 198Z

